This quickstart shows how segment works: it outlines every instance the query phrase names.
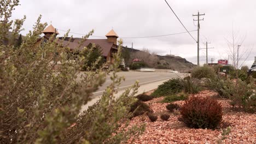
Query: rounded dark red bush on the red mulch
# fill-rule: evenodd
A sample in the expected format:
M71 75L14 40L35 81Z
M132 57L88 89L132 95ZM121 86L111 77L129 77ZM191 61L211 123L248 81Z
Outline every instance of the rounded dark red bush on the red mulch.
M222 121L222 106L210 97L190 97L180 109L180 118L190 128L216 129Z

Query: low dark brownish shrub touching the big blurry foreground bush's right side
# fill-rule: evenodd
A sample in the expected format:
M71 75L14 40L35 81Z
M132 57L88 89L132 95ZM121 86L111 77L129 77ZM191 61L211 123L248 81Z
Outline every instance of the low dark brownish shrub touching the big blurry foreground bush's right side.
M132 112L132 117L141 116L144 113L151 113L149 106L142 101L137 100L135 103L131 105L130 112Z

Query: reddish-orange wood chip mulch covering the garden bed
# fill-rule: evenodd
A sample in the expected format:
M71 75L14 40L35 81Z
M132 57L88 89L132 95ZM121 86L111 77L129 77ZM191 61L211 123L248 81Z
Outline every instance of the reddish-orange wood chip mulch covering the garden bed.
M149 92L150 94L150 92ZM211 91L202 91L196 96L215 97L217 93ZM192 129L178 121L180 114L168 112L165 108L167 103L159 103L163 98L154 98L146 103L158 115L156 122L151 122L146 115L132 118L130 125L146 124L146 129L135 141L131 139L128 143L217 143L222 137L222 129ZM231 133L223 143L256 143L256 115L246 112L237 112L232 110L230 101L226 99L217 99L223 107L223 127L229 125ZM183 101L174 103L182 104ZM160 119L161 113L169 113L171 116L168 121ZM221 127L221 126L220 126Z

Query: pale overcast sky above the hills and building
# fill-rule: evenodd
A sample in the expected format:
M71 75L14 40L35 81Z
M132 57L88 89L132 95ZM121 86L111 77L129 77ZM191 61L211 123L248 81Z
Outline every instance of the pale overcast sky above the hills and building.
M241 50L252 50L246 61L251 66L256 56L256 1L255 0L168 0L179 19L189 31L197 29L193 22L193 14L205 13L204 21L200 21L200 46L208 47L208 62L211 58L228 59L227 40L231 40L232 27L237 33L237 42L245 38ZM20 0L12 19L27 16L24 23L26 34L32 29L39 14L42 22L52 23L63 36L67 29L71 32L86 34L91 29L94 35L104 36L112 28L119 37L146 37L185 32L181 23L173 15L164 0ZM191 32L197 39L197 32ZM72 34L73 37L81 37ZM91 39L98 39L91 37ZM167 37L123 39L124 46L135 49L149 49L158 55L181 56L197 63L197 44L188 33ZM205 63L206 52L200 51L200 64Z

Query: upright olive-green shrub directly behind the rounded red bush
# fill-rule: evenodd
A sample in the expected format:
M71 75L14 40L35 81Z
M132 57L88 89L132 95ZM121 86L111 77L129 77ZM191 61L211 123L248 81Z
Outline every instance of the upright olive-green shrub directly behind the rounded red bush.
M199 84L193 82L193 80L190 79L190 77L188 77L186 79L181 79L181 85L183 86L183 91L185 93L189 93L189 94L199 93L199 91L201 91L201 89L202 89L199 86Z

